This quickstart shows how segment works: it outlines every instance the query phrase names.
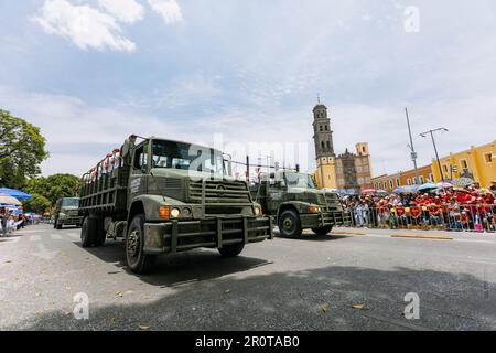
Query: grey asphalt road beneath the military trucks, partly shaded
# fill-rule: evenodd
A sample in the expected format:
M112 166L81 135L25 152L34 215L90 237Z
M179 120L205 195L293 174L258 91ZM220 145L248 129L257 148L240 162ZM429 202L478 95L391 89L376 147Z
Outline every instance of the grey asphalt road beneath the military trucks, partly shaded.
M496 329L496 235L339 231L234 259L162 257L136 276L121 243L84 249L79 229L32 226L0 238L0 330ZM416 234L452 239L391 237ZM410 292L418 320L403 315ZM88 320L74 317L77 293Z

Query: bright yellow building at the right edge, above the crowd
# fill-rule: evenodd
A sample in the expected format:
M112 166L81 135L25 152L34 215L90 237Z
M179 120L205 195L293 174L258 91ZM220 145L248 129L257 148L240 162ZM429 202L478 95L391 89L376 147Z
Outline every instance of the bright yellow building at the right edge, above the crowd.
M467 176L478 182L482 188L489 188L492 181L496 180L495 145L496 140L479 147L472 146L470 150L441 158L444 180ZM433 160L431 169L434 181L440 182L442 178L436 160Z

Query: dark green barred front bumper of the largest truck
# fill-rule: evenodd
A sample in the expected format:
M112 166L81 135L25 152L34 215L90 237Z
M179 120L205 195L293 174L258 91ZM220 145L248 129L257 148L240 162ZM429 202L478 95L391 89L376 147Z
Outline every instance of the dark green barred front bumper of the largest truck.
M217 217L144 224L144 253L174 254L273 239L271 217Z

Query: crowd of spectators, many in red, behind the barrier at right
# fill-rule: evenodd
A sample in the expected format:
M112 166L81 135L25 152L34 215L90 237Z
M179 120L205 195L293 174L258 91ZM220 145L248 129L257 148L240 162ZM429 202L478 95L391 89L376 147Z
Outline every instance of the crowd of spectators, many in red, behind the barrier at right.
M402 194L343 197L354 226L449 231L496 231L495 185L443 188Z

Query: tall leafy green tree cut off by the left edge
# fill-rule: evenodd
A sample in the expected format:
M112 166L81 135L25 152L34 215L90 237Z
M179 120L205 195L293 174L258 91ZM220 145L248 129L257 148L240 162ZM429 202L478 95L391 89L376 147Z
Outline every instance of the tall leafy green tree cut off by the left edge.
M40 128L0 109L0 185L19 189L48 158Z

